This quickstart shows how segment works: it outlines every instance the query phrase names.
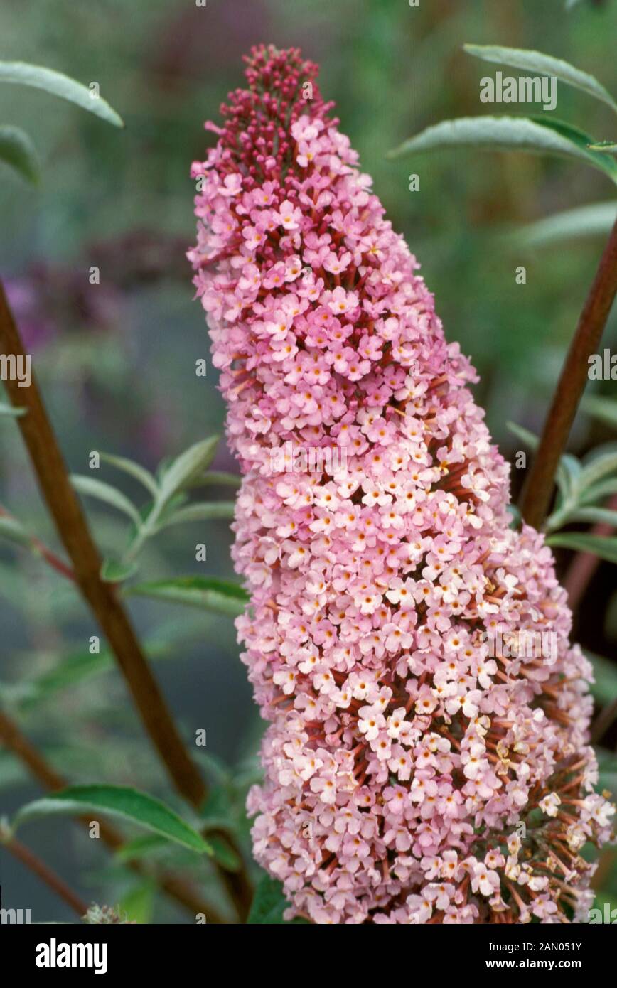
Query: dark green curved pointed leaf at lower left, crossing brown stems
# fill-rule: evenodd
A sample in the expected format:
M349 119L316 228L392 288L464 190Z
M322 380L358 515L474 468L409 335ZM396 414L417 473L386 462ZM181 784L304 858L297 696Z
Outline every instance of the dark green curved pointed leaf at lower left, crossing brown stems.
M13 825L17 829L27 820L53 814L72 816L86 811L129 820L189 848L190 851L198 854L211 853L210 847L197 831L169 806L129 785L70 785L22 807Z

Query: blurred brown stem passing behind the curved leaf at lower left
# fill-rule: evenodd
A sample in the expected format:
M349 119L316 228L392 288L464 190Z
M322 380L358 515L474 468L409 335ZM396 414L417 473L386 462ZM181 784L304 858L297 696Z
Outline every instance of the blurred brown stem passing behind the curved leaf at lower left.
M30 770L35 779L44 785L44 788L52 792L63 789L68 782L63 779L48 762L43 755L35 748L31 741L22 734L20 728L2 710L0 710L0 740L9 748L14 755ZM79 821L84 826L90 826L90 818L80 816ZM104 820L100 821L99 833L101 840L112 851L118 851L126 843L123 835ZM143 867L138 861L127 863L132 871L144 876L151 876L151 871ZM179 878L169 872L154 873L154 880L166 892L170 898L175 899L181 906L188 909L193 917L198 913L204 913L209 924L220 925L224 921L215 909L204 902L192 885L183 878Z

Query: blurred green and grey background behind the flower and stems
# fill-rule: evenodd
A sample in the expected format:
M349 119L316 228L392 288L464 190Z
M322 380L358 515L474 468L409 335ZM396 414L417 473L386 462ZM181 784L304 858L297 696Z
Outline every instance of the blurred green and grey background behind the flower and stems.
M127 123L120 131L41 92L0 87L0 121L27 129L44 163L37 191L2 167L0 270L70 469L86 472L92 450L128 455L153 469L162 457L221 430L216 371L209 361L208 376L195 375L195 361L208 357L208 340L185 259L194 240L189 167L212 142L204 120L217 119L221 100L241 82L241 55L260 41L301 45L321 64L322 92L336 101L341 129L421 262L448 338L478 368L477 398L513 461L520 441L506 422L540 431L602 249L601 234L530 245L518 231L566 208L607 203L614 187L599 172L555 159L459 150L391 162L385 152L443 119L525 112L480 103L481 77L499 66L470 58L465 42L544 50L591 71L617 94L617 0L566 6L565 0L421 0L419 8L406 0L207 0L206 7L195 0L3 0L0 58L98 82ZM567 87L558 89L555 116L597 139L615 138L610 110ZM412 172L419 175L418 192L408 188ZM524 286L515 284L519 265L527 272ZM92 266L100 269L98 286L88 281ZM617 313L604 345L617 351ZM615 397L614 382L594 385L609 396L611 386ZM614 427L581 413L570 448L580 455L615 438ZM235 469L224 444L215 466ZM523 471L512 473L516 494ZM109 467L101 478L139 496ZM0 504L57 545L8 419L0 420ZM95 501L86 508L104 551L121 546L122 518ZM206 563L195 562L198 541L208 545ZM231 576L228 548L225 523L175 528L147 547L141 569L151 579ZM572 554L564 551L558 561L564 576ZM261 724L231 620L142 602L132 604L132 616L185 737L207 730L198 758L239 816L245 788L258 778ZM2 702L71 780L133 783L174 803L118 675L104 664L84 671L82 653L93 633L61 577L0 542ZM594 689L601 705L615 696L617 680L609 563L588 583L575 633L600 656ZM32 687L42 680L43 697ZM613 731L604 746L614 748L616 740ZM614 788L617 763L608 750L602 759L602 782ZM0 814L39 794L0 751ZM25 840L87 900L120 900L142 920L185 922L67 821L33 823ZM6 855L0 861L4 906L31 908L39 922L72 919L21 865ZM194 869L179 859L179 867L188 865ZM208 888L208 865L199 867ZM610 854L600 874L602 896L617 900Z

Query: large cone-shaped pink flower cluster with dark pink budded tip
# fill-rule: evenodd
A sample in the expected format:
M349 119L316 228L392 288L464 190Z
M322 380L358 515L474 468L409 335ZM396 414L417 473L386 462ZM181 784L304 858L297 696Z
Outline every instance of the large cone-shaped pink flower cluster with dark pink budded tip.
M510 528L475 372L316 67L247 61L193 168L189 256L243 473L237 628L269 721L255 858L314 923L572 920L579 849L613 808L592 793L590 669L552 555ZM550 664L488 657L497 631L533 629Z

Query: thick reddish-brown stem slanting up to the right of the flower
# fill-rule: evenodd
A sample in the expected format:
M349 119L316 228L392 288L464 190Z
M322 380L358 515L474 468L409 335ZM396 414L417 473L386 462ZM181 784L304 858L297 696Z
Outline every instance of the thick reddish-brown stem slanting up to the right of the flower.
M539 529L551 503L555 472L566 448L578 402L587 382L589 357L596 353L617 293L617 221L587 294L553 397L538 451L521 498L521 514Z

